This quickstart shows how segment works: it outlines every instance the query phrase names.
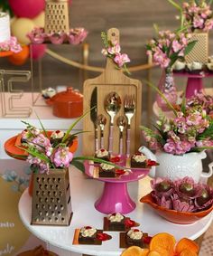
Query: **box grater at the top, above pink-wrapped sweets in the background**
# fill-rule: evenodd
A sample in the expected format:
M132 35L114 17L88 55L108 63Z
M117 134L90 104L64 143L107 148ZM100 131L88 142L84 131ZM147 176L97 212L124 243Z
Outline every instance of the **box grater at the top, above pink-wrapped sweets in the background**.
M69 33L69 1L46 0L45 33Z

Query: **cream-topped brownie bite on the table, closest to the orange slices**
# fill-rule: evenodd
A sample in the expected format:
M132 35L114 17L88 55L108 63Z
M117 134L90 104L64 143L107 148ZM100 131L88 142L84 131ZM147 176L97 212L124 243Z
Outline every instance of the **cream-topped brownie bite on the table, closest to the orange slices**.
M143 232L138 229L131 229L125 233L125 243L128 246L144 247Z

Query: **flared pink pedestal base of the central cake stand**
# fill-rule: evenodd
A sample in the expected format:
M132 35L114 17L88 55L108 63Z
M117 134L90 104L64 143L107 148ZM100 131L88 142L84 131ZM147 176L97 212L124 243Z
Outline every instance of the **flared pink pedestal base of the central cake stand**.
M131 213L136 204L130 198L126 183L105 182L103 194L97 200L95 207L100 213Z

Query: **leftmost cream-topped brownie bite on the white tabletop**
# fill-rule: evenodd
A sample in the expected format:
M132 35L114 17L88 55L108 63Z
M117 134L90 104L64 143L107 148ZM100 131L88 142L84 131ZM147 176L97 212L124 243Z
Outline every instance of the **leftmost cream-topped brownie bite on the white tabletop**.
M94 244L97 238L97 229L86 226L80 229L79 242L85 244Z

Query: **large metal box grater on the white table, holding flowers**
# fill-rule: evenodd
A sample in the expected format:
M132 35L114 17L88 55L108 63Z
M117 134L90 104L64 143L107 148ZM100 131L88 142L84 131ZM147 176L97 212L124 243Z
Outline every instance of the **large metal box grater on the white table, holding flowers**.
M33 174L32 224L68 226L72 217L69 169Z

